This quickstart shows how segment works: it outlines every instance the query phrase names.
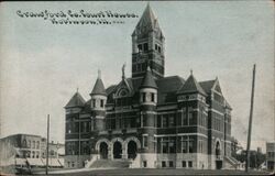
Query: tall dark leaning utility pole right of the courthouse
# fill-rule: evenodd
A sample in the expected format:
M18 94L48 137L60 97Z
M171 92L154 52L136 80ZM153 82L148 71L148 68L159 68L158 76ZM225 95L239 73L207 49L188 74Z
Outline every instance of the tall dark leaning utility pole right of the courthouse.
M251 143L251 129L252 129L253 103L254 103L255 72L256 72L256 65L254 64L254 66L253 66L253 79L252 79L252 92L251 92L249 134L248 134L248 144L246 144L246 163L245 163L245 172L246 173L249 172L249 166L250 166L250 143Z

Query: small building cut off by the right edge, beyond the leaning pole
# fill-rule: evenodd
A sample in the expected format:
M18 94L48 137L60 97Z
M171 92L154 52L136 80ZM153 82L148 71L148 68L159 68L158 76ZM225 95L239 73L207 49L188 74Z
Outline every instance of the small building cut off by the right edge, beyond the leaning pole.
M275 169L275 142L266 142L266 165L268 170Z

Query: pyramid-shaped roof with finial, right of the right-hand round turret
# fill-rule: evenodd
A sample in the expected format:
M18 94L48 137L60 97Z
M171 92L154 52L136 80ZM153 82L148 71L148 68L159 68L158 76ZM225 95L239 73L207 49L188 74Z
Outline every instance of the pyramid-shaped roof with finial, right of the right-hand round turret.
M201 88L201 86L198 84L198 81L193 76L193 74L189 76L189 78L186 80L186 82L179 89L179 91L177 94L191 94L191 92L200 92L201 95L207 96L207 94Z

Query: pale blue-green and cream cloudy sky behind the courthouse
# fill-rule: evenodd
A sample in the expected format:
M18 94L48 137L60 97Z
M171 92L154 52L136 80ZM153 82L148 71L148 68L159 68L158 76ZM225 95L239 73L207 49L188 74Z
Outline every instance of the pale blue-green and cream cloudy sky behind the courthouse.
M105 86L131 77L131 34L122 24L52 24L21 12L112 11L141 16L147 2L1 2L0 138L28 133L64 142L64 107L79 88L88 100L98 69ZM272 1L150 2L165 35L165 75L219 78L233 108L232 135L245 147L252 68L256 64L252 148L265 148L274 131L274 4ZM90 20L90 19L89 19Z

